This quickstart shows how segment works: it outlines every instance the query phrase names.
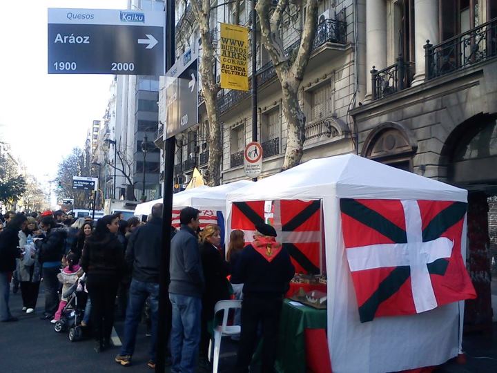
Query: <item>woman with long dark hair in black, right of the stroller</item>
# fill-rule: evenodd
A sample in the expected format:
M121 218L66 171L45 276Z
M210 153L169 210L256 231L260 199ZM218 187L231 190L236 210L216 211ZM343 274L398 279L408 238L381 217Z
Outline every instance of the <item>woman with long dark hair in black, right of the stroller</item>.
M95 351L106 350L114 325L117 286L125 269L124 251L117 240L119 218L106 215L86 238L79 264L86 272L86 289L92 303Z

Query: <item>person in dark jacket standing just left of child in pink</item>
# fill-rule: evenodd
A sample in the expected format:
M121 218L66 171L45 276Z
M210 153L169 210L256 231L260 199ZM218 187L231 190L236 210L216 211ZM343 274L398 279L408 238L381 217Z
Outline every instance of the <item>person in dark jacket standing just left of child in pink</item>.
M41 219L40 228L43 233L35 238L35 246L39 249L39 262L45 287L45 312L41 319L52 320L59 307L59 279L61 260L66 247L67 231L57 228L57 223L52 216Z

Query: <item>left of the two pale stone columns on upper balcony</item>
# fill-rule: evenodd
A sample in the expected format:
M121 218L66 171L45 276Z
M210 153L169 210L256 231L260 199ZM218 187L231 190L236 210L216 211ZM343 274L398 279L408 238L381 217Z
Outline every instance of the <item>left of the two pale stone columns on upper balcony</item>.
M387 67L387 0L366 1L366 99L371 100L371 74Z

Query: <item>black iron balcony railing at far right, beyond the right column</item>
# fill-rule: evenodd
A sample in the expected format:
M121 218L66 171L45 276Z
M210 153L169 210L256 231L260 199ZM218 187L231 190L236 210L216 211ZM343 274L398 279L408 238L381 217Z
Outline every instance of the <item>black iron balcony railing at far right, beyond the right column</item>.
M425 44L427 80L497 57L497 18L440 44Z

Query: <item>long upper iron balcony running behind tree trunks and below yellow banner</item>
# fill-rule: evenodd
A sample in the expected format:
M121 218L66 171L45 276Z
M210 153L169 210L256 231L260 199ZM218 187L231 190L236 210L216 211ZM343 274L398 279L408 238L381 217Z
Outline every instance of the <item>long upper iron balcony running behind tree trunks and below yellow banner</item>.
M335 19L325 19L318 24L314 41L313 50L319 48L326 43L347 44L347 23L344 21L337 21ZM296 40L293 44L285 48L285 55L289 56L291 60L295 59L295 52L300 46L300 39ZM257 70L257 86L262 86L266 82L276 77L276 70L273 62L269 61ZM220 91L217 105L220 113L228 111L238 102L251 96L251 82L249 80L249 90L229 90L228 93Z

